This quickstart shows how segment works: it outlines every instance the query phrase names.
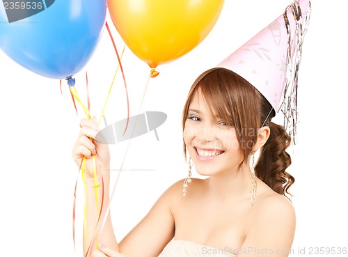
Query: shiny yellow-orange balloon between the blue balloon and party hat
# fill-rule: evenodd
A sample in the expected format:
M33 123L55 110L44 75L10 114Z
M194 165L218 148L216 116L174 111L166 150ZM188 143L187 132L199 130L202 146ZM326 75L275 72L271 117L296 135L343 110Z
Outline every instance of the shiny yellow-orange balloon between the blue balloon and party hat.
M223 0L107 0L125 44L150 68L173 61L209 34Z

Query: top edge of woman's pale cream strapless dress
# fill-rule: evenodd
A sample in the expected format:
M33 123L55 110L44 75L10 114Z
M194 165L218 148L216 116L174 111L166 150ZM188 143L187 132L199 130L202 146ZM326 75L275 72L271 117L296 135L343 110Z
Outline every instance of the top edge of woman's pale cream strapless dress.
M173 239L168 242L159 257L236 257L228 247L217 249L188 240Z

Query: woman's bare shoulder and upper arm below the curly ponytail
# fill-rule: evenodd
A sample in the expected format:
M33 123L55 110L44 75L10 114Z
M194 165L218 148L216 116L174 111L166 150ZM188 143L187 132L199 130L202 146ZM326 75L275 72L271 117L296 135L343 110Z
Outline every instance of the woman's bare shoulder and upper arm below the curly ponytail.
M296 219L292 204L283 196L272 196L257 208L238 256L288 256Z

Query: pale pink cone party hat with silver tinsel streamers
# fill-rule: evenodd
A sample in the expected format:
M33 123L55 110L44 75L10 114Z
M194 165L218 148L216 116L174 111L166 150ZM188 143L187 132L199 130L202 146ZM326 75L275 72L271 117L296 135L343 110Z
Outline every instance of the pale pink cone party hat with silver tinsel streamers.
M282 109L284 126L292 136L296 133L298 69L310 10L309 0L294 0L283 15L217 65L255 86L275 111Z

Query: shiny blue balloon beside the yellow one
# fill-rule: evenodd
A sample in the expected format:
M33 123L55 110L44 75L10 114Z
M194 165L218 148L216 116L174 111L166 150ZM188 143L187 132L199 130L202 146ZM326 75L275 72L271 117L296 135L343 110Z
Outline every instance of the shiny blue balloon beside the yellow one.
M104 0L0 0L0 49L39 75L64 79L88 63L105 19Z

